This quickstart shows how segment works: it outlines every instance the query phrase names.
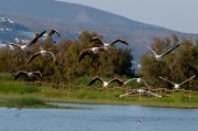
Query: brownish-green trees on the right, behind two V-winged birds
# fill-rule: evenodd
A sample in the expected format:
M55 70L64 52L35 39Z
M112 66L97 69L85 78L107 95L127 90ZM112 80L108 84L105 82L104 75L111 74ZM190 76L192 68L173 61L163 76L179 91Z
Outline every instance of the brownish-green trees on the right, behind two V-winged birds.
M177 44L178 37L174 34L172 41L168 37L155 37L154 43L151 46L157 54L161 54ZM194 45L191 37L183 39L180 46L166 55L164 57L164 62L157 62L156 59L150 57L150 55L152 54L146 52L141 56L141 72L145 79L156 87L168 87L170 89L173 87L173 85L167 81L160 79L158 76L163 76L179 84L197 74L196 56L198 55L198 47L197 44ZM197 89L194 79L186 83L183 87L185 89L190 89L193 88L191 85L194 85L194 88Z

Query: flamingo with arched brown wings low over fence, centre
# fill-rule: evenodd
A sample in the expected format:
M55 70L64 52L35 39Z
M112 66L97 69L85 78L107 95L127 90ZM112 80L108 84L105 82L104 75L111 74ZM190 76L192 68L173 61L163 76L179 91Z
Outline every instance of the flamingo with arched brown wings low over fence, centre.
M113 81L117 81L120 86L123 85L123 81L119 78L114 78L114 79L111 79L110 81L105 81L102 78L96 76L95 78L92 78L92 80L88 84L88 86L91 86L96 80L99 80L102 83L102 86L106 88L109 86L109 84L113 83Z

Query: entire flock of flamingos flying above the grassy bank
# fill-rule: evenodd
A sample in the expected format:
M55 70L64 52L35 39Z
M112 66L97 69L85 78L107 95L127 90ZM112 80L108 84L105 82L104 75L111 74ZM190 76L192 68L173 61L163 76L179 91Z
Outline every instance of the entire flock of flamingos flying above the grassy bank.
M56 41L53 40L52 35L53 34L57 34L59 37L61 37L61 34L58 33L57 30L55 29L51 29L51 31L48 33L46 33L46 31L43 31L42 33L35 33L34 36L28 41L28 43L23 44L23 45L20 45L20 44L13 44L13 43L9 43L9 47L10 50L14 51L15 47L20 47L22 51L25 51L26 48L30 48L33 44L36 44L37 40L40 37L43 37L44 40L48 39L51 42L53 43L56 43ZM122 39L117 39L114 41L112 41L111 43L106 43L103 40L101 40L100 37L98 36L94 36L89 42L96 42L96 41L100 41L103 45L102 46L99 46L99 47L91 47L91 48L85 48L81 51L80 55L79 55L79 58L78 58L78 63L80 63L85 56L89 55L90 53L91 54L100 54L102 52L106 52L109 54L109 50L111 47L111 45L120 42L122 44L125 44L125 45L129 45L128 42L125 42L124 40ZM146 43L144 42L144 44L146 45ZM173 52L175 48L177 48L180 44L177 44L176 46L169 48L168 51L166 51L165 53L158 55L156 54L148 45L147 48L155 55L155 58L157 61L163 61L163 57L165 55L167 55L168 53ZM46 50L43 50L42 47L40 47L40 52L33 54L28 64L31 63L35 57L40 56L40 55L43 55L43 56L52 56L54 58L54 62L56 65L58 65L57 61L56 61L56 57L54 55L54 53L50 52L50 51L46 51ZM25 72L25 70L19 70L18 74L15 75L14 77L14 80L16 80L21 75L26 75L28 77L34 77L35 75L38 75L40 77L42 77L42 74L40 72ZM174 88L180 88L180 86L185 83L187 83L188 80L193 79L194 77L196 77L196 75L194 75L193 77L190 77L189 79L180 83L180 84L175 84L168 79L165 79L163 77L160 76L161 79L163 80L166 80L170 84L174 85ZM101 81L102 83L102 86L103 87L108 87L109 84L113 83L113 81L117 81L120 86L125 86L129 81L131 80L136 80L136 83L139 84L144 84L146 86L147 89L139 89L139 90L135 90L135 91L131 91L131 92L128 92L128 94L124 94L124 95L120 95L119 97L123 97L123 96L128 96L128 95L132 95L132 94L142 94L142 95L154 95L156 97L162 97L160 95L156 95L156 94L153 94L152 90L151 90L151 87L142 79L142 78L132 78L132 79L129 79L127 81L122 81L121 79L119 78L114 78L114 79L111 79L110 81L105 81L102 78L100 78L99 76L96 76L95 78L92 78L90 80L90 83L88 84L88 86L91 86L95 81Z

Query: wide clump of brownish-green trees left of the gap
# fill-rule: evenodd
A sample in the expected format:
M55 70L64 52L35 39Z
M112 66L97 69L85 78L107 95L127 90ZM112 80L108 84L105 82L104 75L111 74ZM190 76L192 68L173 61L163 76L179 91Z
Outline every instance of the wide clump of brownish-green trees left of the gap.
M84 31L78 36L78 40L75 41L63 40L59 44L54 44L48 40L38 42L32 46L31 52L23 52L16 48L11 54L8 54L7 51L2 50L0 51L0 61L4 61L4 63L0 65L0 68L8 72L8 63L10 62L14 74L21 69L28 72L40 70L43 74L42 80L46 83L74 84L77 77L85 75L105 77L113 77L114 75L132 76L132 50L117 48L116 45L110 48L110 54L89 54L78 63L78 57L82 50L101 45L101 42L89 42L94 36L99 35L96 32ZM42 55L28 64L29 58L38 52L40 47L53 52L58 65L55 65L53 57Z

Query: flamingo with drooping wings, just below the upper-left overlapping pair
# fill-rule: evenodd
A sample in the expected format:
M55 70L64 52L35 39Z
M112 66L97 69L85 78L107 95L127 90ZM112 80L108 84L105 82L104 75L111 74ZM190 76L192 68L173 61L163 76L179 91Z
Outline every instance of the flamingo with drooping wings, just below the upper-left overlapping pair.
M37 52L37 53L35 53L34 55L31 56L31 58L30 58L30 61L28 62L28 64L31 63L35 57L37 57L37 56L40 56L40 55L43 55L43 56L52 55L53 58L54 58L55 64L58 65L54 53L48 52L48 51L45 51L45 50L43 50L42 47L41 47L41 51L40 51L40 52Z

